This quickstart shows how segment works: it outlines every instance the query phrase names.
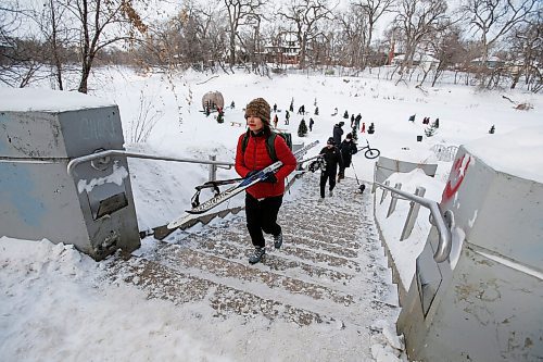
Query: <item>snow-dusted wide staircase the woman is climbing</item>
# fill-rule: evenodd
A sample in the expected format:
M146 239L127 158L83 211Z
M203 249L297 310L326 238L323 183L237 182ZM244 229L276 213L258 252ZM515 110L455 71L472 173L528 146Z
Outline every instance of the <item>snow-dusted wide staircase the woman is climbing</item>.
M369 188L364 195L356 189L348 178L333 197L320 201L318 174L296 182L279 213L283 246L273 249L267 236L262 263L248 263L252 246L241 212L174 234L167 242L153 241L141 257L116 259L112 278L177 304L200 336L253 324L247 335L236 332L237 338L272 338L267 347L253 342L243 351L218 342L236 361L300 359L296 348L307 350L307 361L374 360L377 332L371 325L395 322L399 310L374 223L372 196ZM292 340L292 335L307 339ZM275 354L263 357L267 350Z

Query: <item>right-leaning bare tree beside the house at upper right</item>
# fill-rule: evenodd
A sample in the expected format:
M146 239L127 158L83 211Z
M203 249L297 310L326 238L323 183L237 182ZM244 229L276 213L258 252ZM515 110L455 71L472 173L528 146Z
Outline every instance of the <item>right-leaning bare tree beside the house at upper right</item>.
M405 46L405 58L400 67L402 75L405 68L413 66L420 42L449 25L446 10L445 0L401 0L394 26L403 36Z

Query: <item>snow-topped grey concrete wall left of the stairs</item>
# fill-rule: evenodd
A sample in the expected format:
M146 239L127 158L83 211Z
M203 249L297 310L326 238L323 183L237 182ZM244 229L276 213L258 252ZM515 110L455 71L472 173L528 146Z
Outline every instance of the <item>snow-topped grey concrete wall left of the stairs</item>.
M35 102L34 91L2 91L0 236L73 244L96 259L138 248L126 159L113 159L103 171L80 164L74 178L66 172L74 158L123 149L117 107L59 91L42 91L45 99ZM71 107L59 107L66 98Z

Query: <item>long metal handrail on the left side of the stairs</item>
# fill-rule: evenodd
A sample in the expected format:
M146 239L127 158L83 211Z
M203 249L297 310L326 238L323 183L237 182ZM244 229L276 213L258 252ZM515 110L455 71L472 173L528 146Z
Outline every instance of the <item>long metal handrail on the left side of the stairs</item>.
M171 158L171 157L163 157L163 155L153 155L153 154L146 154L146 153L138 153L138 152L128 152L128 151L123 151L123 150L104 150L104 151L98 151L91 154L87 155L81 155L78 158L73 159L72 161L68 162L66 170L70 176L73 177L72 172L74 168L84 162L89 162L98 159L105 160L104 163L109 163L109 157L111 155L124 155L127 158L135 158L135 159L147 159L147 160L160 160L160 161L175 161L175 162L187 162L187 163L201 163L201 164L214 164L217 166L223 166L226 170L230 170L233 166L232 162L224 162L224 161L211 161L211 160L197 160L197 159L184 159L184 158Z

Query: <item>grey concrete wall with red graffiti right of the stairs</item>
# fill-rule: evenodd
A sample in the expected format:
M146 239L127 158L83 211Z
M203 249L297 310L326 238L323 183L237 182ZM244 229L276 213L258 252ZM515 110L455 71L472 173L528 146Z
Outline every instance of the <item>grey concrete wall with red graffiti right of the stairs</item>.
M543 360L542 204L542 184L459 148L440 204L455 215L452 254L428 258L432 228L402 303L412 359Z

